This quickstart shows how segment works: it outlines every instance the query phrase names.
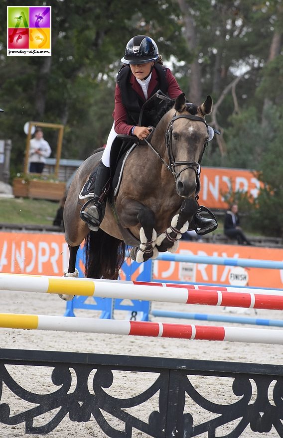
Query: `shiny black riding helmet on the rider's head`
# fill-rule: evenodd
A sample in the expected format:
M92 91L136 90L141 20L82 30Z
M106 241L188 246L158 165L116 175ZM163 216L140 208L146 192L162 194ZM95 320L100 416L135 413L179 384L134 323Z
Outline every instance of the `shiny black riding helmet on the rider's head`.
M156 61L157 58L158 47L155 41L146 35L136 35L127 43L121 62L124 64L145 64Z

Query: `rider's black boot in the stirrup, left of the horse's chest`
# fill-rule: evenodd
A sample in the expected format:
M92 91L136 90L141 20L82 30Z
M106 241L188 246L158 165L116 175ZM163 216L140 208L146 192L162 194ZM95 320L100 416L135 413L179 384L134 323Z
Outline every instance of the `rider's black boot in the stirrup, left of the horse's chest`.
M110 178L110 169L100 161L94 186L94 198L85 203L80 211L80 218L84 220L89 229L98 231L105 214L106 197L103 195L103 189Z

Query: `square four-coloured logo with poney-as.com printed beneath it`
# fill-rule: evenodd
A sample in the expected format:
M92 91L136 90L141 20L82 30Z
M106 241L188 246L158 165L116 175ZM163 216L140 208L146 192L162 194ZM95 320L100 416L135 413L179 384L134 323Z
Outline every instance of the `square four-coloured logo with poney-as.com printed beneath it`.
M7 6L7 55L51 55L51 6Z

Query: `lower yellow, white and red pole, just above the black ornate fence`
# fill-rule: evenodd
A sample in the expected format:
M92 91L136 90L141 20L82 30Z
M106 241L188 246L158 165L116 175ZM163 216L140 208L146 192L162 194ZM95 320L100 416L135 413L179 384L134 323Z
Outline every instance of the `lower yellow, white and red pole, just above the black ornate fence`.
M0 327L283 345L283 330L278 329L246 329L21 314L0 314Z

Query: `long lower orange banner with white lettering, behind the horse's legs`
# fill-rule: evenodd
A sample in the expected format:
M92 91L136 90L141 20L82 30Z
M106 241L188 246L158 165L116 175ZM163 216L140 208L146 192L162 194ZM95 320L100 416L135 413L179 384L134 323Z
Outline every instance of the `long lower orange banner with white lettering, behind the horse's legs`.
M62 276L69 263L64 234L0 232L0 272ZM107 250L107 248L106 248ZM283 261L283 248L218 245L180 241L180 254ZM83 272L83 262L79 268ZM232 266L154 261L154 277L162 281L229 284ZM245 268L249 286L283 288L283 270Z

